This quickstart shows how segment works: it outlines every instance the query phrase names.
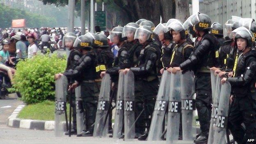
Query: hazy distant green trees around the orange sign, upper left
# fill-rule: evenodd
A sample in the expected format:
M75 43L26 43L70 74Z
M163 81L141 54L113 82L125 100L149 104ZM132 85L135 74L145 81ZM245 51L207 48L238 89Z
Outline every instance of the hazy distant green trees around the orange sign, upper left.
M11 20L26 19L26 27L52 27L57 25L56 18L41 16L28 11L13 9L0 4L0 27L11 27Z

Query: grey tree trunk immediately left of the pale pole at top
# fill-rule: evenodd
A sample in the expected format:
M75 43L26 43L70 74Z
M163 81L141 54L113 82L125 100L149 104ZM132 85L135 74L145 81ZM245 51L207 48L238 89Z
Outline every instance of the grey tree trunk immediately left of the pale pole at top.
M176 12L175 18L184 22L189 16L189 0L175 0Z

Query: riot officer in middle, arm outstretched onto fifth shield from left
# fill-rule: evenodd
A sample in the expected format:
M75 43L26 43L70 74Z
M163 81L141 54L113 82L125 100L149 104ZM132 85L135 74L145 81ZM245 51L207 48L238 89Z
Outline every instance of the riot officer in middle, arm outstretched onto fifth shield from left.
M135 97L135 101L141 101L144 105L145 123L142 126L147 128L151 124L149 116L152 118L159 83L157 63L160 58L160 45L151 38L151 35L151 27L143 25L137 28L134 38L138 39L143 46L139 56L139 63L137 67L124 69L124 73L133 71L134 75L141 80L140 85L143 89L141 89L141 95ZM147 136L148 132L145 132L144 135L138 137L138 140L146 140Z

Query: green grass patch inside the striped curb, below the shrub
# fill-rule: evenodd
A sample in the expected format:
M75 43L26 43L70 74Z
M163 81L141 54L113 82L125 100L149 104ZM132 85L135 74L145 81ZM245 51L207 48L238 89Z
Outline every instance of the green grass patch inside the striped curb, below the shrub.
M69 104L67 103L67 113L69 117ZM54 121L55 119L55 101L43 101L25 106L18 114L20 119L33 119L43 121Z

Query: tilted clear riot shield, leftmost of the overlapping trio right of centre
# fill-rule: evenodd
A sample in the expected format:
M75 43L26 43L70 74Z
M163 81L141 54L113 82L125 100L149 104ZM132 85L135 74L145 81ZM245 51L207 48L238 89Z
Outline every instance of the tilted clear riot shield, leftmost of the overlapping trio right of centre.
M169 87L171 81L171 74L164 71L160 81L158 95L156 97L153 117L149 129L148 141L162 140L161 135L163 131L162 123L165 118L165 111L169 100Z

